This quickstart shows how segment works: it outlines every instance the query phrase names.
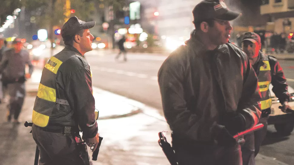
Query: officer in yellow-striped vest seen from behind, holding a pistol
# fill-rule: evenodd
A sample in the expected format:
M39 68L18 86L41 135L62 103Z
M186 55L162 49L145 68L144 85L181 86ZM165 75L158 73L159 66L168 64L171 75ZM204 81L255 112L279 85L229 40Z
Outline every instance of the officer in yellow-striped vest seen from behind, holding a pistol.
M62 26L65 48L42 71L32 113L32 135L40 150L39 164L89 165L79 128L87 145L99 143L92 95L92 73L84 54L92 50L89 29L95 21L71 17Z

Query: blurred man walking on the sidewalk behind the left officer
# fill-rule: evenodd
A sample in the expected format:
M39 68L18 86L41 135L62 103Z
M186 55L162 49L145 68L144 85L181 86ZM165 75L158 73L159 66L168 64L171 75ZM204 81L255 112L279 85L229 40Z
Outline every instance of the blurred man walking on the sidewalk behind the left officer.
M30 78L33 72L28 51L22 49L22 47L21 39L15 38L12 41L12 48L3 52L0 63L1 81L7 84L9 95L7 121L11 121L13 116L13 122L16 124L20 123L18 116L25 99L25 80ZM25 73L26 65L29 66L28 73Z

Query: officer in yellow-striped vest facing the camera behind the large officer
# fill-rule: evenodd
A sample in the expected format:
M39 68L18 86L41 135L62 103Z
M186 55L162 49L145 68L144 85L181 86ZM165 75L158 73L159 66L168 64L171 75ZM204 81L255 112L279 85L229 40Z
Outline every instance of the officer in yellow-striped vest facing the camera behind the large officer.
M282 111L286 112L287 108L290 108L288 101L290 94L288 92L288 85L282 67L279 65L277 59L273 56L264 55L260 51L261 39L260 36L253 32L246 32L242 38L242 49L247 54L249 61L256 72L258 77L259 91L261 93L261 118L259 122L264 125L261 130L254 132L254 148L252 147L252 135L248 135L245 140L246 144L242 147L242 153L252 152L254 159L259 152L259 147L266 136L267 120L271 113L272 99L269 97L269 84L272 83L272 91L279 98L282 104ZM251 146L250 146L251 142ZM249 149L249 150L248 150ZM244 151L244 152L243 152ZM250 154L243 155L243 160L248 159ZM247 157L247 158L246 158Z

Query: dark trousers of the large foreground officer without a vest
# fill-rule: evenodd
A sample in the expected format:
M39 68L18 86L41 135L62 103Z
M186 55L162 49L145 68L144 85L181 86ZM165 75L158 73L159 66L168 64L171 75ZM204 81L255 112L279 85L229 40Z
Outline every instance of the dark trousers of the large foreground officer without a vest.
M242 165L241 147L221 147L198 142L184 144L173 140L173 148L179 165Z

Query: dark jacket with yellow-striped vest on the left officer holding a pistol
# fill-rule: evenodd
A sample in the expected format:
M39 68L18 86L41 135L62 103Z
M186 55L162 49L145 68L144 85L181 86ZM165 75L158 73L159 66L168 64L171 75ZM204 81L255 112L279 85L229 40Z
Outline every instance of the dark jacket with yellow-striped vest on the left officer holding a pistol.
M56 67L59 68L56 69ZM51 102L49 100L54 97L47 97L48 99L44 97L50 92L39 95L41 93L39 86L33 111L33 123L50 129L60 126L77 128L79 125L85 138L95 137L98 127L94 113L92 74L89 63L82 54L72 46L65 46L61 52L48 60L42 71L41 83L45 86L44 88L51 86L56 90L56 103L52 104L52 100ZM58 103L57 99L64 101ZM49 121L42 123L40 114L44 118L50 116Z

